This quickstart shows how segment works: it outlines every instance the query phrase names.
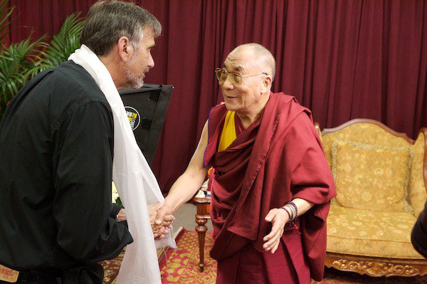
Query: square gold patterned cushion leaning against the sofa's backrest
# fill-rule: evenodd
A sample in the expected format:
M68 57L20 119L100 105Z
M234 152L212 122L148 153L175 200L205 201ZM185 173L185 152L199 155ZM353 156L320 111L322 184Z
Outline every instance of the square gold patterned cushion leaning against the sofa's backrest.
M339 205L382 212L410 212L406 198L411 147L386 147L336 140L332 174Z

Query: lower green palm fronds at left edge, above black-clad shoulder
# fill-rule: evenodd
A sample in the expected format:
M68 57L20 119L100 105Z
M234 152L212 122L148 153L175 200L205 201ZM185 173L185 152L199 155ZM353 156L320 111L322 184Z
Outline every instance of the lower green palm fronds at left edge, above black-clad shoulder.
M0 51L0 100L9 101L25 85L30 70L41 60L41 49L46 48L44 37L31 43L31 36L20 43L3 46Z

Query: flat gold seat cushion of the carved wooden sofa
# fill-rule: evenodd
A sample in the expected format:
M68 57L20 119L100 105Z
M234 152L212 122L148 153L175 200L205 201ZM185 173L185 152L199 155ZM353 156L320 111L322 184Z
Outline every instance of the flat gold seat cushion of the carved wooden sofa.
M406 212L379 212L332 205L327 217L327 251L381 258L423 259L411 244L416 222Z

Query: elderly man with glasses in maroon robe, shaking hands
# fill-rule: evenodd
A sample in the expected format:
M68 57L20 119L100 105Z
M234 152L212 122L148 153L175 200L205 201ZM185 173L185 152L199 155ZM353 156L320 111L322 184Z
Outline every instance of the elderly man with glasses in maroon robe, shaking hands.
M238 46L215 72L225 103L212 108L157 223L191 199L212 167L216 282L321 280L335 189L310 110L271 93L275 59L259 44Z

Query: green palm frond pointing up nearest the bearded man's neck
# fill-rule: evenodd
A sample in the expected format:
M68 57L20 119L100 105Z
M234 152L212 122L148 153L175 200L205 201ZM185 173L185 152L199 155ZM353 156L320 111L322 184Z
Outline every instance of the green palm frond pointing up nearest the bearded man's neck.
M31 75L60 65L68 60L68 56L80 47L78 40L83 29L84 19L79 18L80 13L71 14L65 19L59 32L53 36L51 43L43 51L43 58L31 70Z

